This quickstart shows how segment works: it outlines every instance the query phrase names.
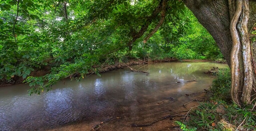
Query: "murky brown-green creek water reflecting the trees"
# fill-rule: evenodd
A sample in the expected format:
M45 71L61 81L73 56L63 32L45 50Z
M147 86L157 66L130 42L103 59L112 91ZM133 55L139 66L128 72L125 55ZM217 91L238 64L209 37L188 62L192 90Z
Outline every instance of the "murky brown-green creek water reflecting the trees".
M213 77L204 74L225 64L171 62L136 65L91 75L83 81L60 81L41 95L28 96L28 85L0 88L0 131L33 131L86 122L90 129L100 121L125 117L143 122L162 115L162 102L182 102L179 97L209 87ZM156 106L158 106L156 108ZM175 107L175 105L172 105ZM162 109L162 108L161 108ZM154 114L154 115L152 115Z

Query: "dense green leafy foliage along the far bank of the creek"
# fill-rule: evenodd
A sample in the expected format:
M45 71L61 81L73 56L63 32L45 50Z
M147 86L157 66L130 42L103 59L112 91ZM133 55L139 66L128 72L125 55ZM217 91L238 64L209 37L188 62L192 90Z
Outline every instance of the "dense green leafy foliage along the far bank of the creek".
M202 26L198 28L200 24L182 1L167 0L164 22L160 23L164 15L160 10L162 2L2 1L0 79L15 81L13 78L20 77L32 86L30 94L40 94L61 79L99 75L104 65L125 62L128 57L149 60L215 57L216 52L207 55L202 53L204 48L199 48L200 43L210 41L214 45L214 42ZM144 42L155 29L158 30ZM200 38L199 34L209 39L194 44L192 41ZM218 50L210 46L205 52L213 48ZM50 73L34 75L41 70Z

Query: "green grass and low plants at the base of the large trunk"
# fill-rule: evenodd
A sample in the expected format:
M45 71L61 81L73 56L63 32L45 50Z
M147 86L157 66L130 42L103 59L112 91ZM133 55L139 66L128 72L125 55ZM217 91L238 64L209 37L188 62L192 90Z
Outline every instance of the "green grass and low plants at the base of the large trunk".
M255 131L254 104L239 107L230 98L230 69L215 74L209 101L188 113L186 121L176 121L183 131Z

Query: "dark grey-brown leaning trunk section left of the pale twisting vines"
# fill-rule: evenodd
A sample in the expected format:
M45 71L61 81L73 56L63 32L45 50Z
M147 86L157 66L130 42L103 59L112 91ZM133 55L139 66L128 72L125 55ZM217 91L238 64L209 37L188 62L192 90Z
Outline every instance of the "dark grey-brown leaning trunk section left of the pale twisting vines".
M227 0L184 0L198 21L212 35L230 66L232 38Z

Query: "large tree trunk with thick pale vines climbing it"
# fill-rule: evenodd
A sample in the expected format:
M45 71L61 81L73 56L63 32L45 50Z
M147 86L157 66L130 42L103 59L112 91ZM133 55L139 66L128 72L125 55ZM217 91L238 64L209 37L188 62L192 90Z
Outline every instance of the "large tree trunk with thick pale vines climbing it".
M252 91L255 87L255 52L251 57L248 30L255 18L251 15L248 22L248 0L184 0L184 3L213 36L231 69L232 100L238 104L250 103L251 95L255 93ZM252 5L255 3L250 1ZM251 10L250 14L253 14L255 11Z

